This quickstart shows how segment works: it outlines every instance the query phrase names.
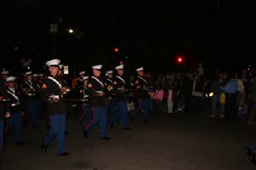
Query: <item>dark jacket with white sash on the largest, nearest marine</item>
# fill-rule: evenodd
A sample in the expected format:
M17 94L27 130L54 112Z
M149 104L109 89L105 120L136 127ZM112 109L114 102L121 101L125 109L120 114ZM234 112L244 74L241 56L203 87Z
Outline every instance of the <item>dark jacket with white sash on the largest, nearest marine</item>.
M51 115L61 115L67 113L64 101L50 101L49 96L58 95L62 98L61 93L62 81L60 77L47 77L41 88L41 98L46 102L45 112Z

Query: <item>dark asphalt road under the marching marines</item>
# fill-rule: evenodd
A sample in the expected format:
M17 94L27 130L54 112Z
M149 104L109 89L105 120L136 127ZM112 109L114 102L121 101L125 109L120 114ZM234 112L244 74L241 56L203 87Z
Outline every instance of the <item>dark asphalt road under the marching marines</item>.
M56 140L41 152L45 122L40 128L23 127L24 146L6 141L1 168L4 170L254 170L245 147L256 144L256 127L243 122L219 122L209 113L166 115L151 111L150 123L137 116L131 131L116 123L108 128L109 141L99 139L96 127L87 139L73 114L68 115L67 150L70 156L56 156Z

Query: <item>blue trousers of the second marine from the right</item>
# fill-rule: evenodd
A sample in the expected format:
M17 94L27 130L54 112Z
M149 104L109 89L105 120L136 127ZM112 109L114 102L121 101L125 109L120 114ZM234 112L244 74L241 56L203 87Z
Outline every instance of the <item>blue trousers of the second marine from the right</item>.
M118 101L118 119L121 119L122 128L128 127L128 109L127 109L127 101Z

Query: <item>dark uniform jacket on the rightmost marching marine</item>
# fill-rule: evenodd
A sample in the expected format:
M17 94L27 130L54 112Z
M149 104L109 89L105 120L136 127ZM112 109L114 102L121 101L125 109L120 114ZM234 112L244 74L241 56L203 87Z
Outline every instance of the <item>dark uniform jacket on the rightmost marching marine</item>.
M148 91L144 88L148 87L148 82L143 77L137 77L135 81L135 86L137 88L137 98L138 99L149 99L150 95Z

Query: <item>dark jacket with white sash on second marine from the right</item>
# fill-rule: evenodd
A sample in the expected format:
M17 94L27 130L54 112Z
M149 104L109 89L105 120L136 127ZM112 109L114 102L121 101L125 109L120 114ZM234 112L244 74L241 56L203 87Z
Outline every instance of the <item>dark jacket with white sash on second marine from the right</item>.
M125 101L127 100L127 91L126 90L126 82L123 77L113 77L113 91L115 94L115 99L117 101Z

